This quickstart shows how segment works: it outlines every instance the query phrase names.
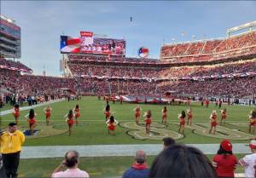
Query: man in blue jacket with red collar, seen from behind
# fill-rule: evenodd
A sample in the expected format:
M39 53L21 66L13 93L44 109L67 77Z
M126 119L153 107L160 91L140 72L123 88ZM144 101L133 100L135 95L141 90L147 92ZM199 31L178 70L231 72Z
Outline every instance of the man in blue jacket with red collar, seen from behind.
M149 169L146 163L146 153L143 150L138 150L134 160L135 163L125 171L123 178L147 178Z

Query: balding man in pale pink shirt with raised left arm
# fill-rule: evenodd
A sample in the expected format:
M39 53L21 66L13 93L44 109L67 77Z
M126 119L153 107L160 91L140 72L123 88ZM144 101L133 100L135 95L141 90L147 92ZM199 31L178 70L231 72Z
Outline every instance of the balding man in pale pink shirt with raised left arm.
M62 170L67 167L66 170ZM88 173L79 168L79 152L70 151L65 154L64 160L55 169L51 177L89 177Z

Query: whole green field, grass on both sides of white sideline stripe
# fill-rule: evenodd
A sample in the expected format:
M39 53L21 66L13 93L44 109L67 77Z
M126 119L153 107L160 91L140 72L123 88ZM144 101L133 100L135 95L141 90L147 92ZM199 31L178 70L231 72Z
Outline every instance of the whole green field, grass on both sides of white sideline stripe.
M69 109L79 104L81 118L78 126L73 126L73 135L67 134L67 123L63 116L67 114ZM177 136L178 119L177 114L182 110L189 109L188 106L167 106L168 118L167 127L161 124L161 109L165 105L150 105L141 104L143 112L148 109L152 111L152 135L145 135L143 124L143 116L140 118L139 125L134 122L133 109L137 104L119 102L112 104L110 102L111 111L116 120L119 121L119 126L116 129L116 135L108 135L108 129L105 123L104 108L106 101L97 100L96 97L86 96L82 100L61 101L50 105L52 116L50 125L45 125L44 107L38 106L35 108L37 113L37 127L40 132L36 136L27 136L24 146L73 146L73 145L104 145L104 144L160 144L160 135ZM230 138L232 143L248 143L255 135L247 133L248 114L253 110L252 106L227 106L227 123L218 125L217 135L209 135L206 130L209 129L209 116L212 110L217 110L218 121L220 120L220 112L218 107L211 104L209 108L201 106L201 103L192 103L194 114L192 127L186 126L184 135L177 138L177 142L181 143L220 143L223 138ZM2 111L9 109L4 107ZM28 129L28 123L24 116L28 110L20 112L21 130ZM2 129L5 129L9 122L15 121L12 114L2 116ZM205 130L205 131L203 131ZM135 136L137 132L139 137ZM234 135L233 135L234 133ZM236 135L239 135L236 137ZM216 151L217 152L217 151ZM212 155L207 155L212 158ZM238 158L243 154L236 155ZM152 163L154 156L148 156L148 165ZM103 158L81 158L81 168L89 172L91 177L108 177L122 175L125 169L131 166L131 157L103 157ZM61 158L32 158L21 159L19 174L20 177L49 177L55 167L61 163ZM30 168L30 169L28 169ZM242 172L241 167L238 167L236 172Z

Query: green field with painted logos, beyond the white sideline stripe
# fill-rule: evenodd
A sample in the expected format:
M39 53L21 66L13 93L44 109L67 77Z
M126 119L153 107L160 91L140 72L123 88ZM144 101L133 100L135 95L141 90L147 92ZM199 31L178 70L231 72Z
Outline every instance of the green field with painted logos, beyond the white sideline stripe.
M67 114L69 109L79 104L81 118L78 126L73 126L73 135L67 135L67 123L65 122L64 115ZM37 127L41 130L37 136L27 138L25 146L61 146L61 145L102 145L102 144L145 144L145 143L160 143L161 138L154 140L154 135L160 135L159 133L171 133L173 137L177 135L178 119L177 114L182 110L187 110L188 106L167 106L168 125L165 127L161 124L161 109L165 105L150 105L141 104L140 107L143 112L148 109L152 111L153 123L151 130L153 136L144 134L144 122L143 116L140 118L140 124L137 126L134 122L133 109L137 104L119 102L112 104L111 112L116 120L119 121L119 126L116 129L116 135L108 135L108 129L105 123L104 108L106 101L97 100L96 97L86 96L82 100L61 101L50 105L52 110L52 116L50 118L50 125L45 125L44 107L38 106L35 108L37 113ZM178 138L178 142L182 143L219 143L223 138L230 138L232 142L244 142L247 143L253 135L247 133L247 121L248 114L253 107L251 106L225 106L227 108L227 123L224 125L218 125L217 135L209 135L201 132L202 129L206 131L209 129L209 116L212 110L217 110L218 121L220 120L220 112L218 107L211 104L209 108L201 106L200 103L192 103L192 110L194 114L193 122L196 123L193 127L186 126L184 135ZM4 108L3 108L4 110ZM24 116L28 113L28 110L20 112L20 129L28 129L28 123ZM2 116L2 128L9 122L15 121L13 114ZM129 123L129 124L128 124ZM125 127L126 125L126 127ZM139 129L142 138L136 138L133 136L134 131ZM220 130L221 129L221 130ZM225 129L229 132L225 133ZM158 133L159 132L159 133ZM236 132L241 135L240 139L236 139L230 132ZM239 132L239 133L238 133ZM213 136L213 137L212 137ZM230 136L230 137L229 137Z

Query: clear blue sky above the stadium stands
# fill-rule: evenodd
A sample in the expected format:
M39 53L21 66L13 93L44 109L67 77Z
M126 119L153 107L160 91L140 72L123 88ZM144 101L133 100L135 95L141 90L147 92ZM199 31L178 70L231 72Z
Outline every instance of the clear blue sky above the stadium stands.
M126 56L148 47L159 58L163 43L225 37L226 29L256 20L253 1L1 1L1 14L21 28L21 59L34 74L60 76L60 35L80 31L126 39ZM132 16L133 21L130 22ZM181 33L185 32L182 37ZM175 41L172 40L175 38Z

